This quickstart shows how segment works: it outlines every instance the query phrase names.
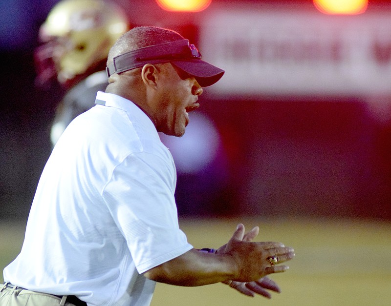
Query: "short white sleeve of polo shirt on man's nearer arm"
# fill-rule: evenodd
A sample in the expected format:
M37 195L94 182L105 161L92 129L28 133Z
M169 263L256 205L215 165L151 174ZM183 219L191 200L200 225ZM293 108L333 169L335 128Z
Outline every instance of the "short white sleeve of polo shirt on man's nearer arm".
M115 167L104 188L104 200L139 273L193 247L179 229L174 190L174 165L145 152Z

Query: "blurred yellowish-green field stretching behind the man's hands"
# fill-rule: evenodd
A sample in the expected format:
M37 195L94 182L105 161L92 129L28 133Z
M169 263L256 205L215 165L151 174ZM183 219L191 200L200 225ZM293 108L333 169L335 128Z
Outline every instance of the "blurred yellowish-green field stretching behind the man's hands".
M223 284L195 288L158 284L152 306L390 306L391 223L350 219L190 220L180 224L195 247L217 247L236 224L261 227L258 241L275 240L295 248L290 269L272 278L281 294L249 298ZM0 265L19 252L24 224L0 225ZM2 281L2 275L0 277Z

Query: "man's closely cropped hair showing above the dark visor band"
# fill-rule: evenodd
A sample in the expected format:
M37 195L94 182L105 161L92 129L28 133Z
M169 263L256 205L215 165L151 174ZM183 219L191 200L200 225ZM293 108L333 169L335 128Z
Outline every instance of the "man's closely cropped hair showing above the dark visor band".
M183 39L182 35L170 29L155 26L134 27L114 43L109 51L107 63L112 62L117 55L134 49Z

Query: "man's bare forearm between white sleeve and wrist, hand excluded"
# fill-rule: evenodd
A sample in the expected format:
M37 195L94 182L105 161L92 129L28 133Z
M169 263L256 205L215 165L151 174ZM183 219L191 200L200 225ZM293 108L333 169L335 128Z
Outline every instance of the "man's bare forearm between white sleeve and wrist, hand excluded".
M238 266L228 254L192 249L144 273L148 279L176 286L203 286L234 279Z

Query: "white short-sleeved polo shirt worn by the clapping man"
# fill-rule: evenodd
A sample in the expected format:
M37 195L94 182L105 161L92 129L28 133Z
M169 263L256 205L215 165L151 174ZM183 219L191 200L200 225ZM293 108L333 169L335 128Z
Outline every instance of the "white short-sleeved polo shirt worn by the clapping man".
M54 147L4 280L88 305L149 305L155 283L140 274L192 248L174 161L135 104L103 92L97 101Z

